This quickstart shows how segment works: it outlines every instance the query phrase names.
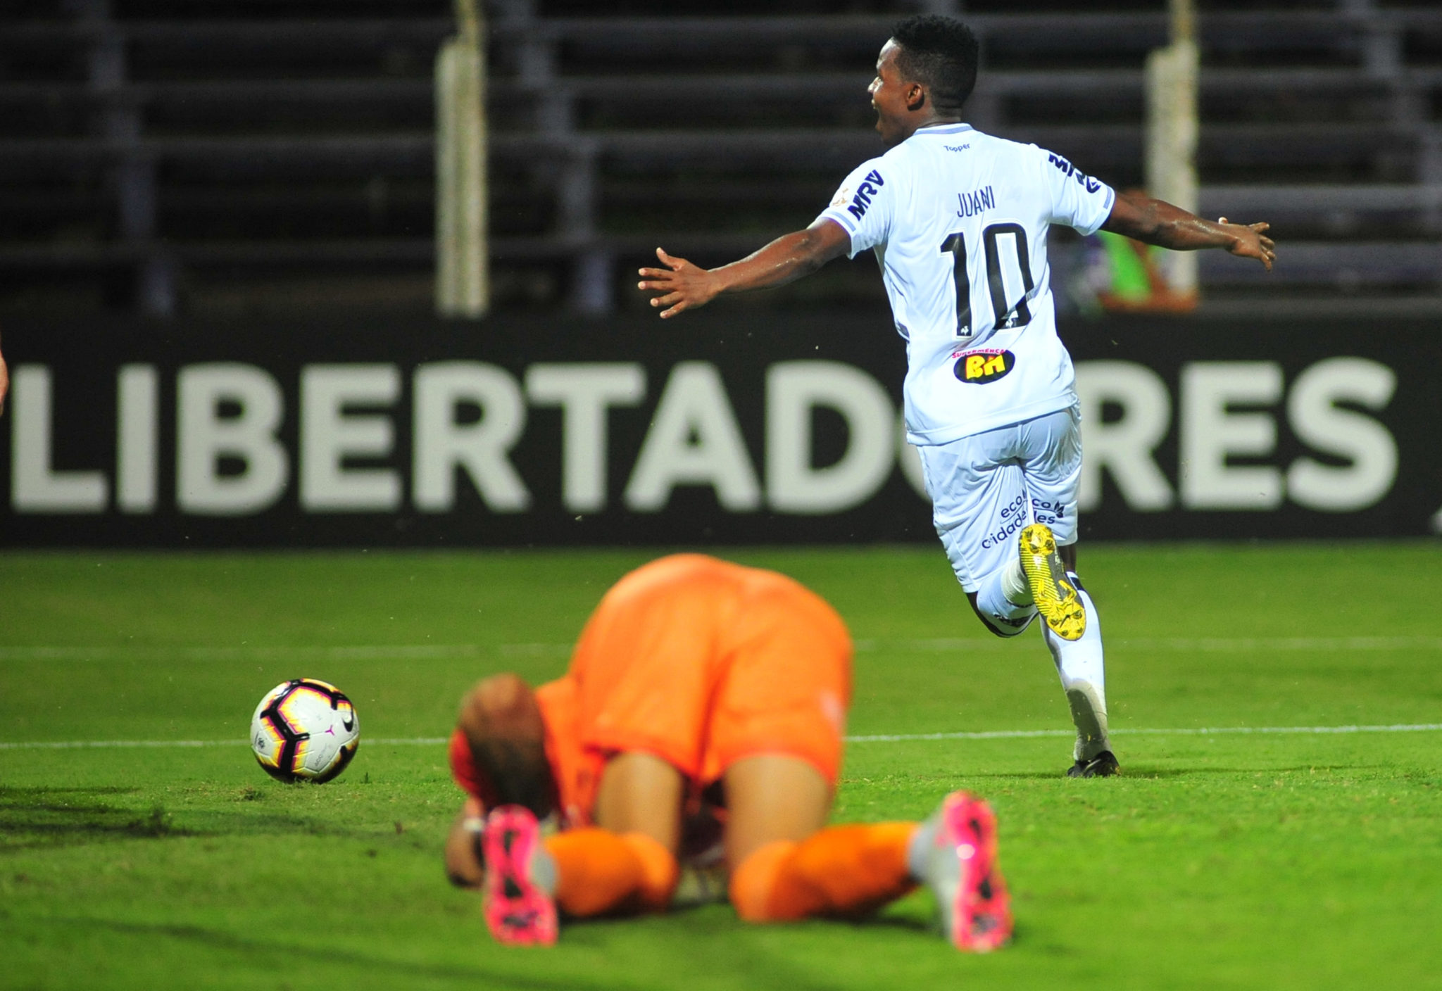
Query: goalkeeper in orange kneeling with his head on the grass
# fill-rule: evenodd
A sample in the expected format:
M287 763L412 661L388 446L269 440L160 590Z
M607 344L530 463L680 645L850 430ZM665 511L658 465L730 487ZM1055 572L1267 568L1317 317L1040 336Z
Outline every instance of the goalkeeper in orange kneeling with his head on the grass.
M858 916L926 884L953 945L1001 945L983 801L826 825L849 697L851 638L820 596L701 555L652 562L606 593L562 677L467 693L447 871L483 889L503 943L554 942L558 915L663 912L684 866L720 861L747 922Z

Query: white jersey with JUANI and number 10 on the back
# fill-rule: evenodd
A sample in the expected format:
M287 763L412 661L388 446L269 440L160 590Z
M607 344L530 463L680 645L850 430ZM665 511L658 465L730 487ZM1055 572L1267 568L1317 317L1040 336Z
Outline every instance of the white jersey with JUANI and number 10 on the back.
M947 444L1076 405L1047 230L1100 228L1116 194L1034 144L924 127L858 166L819 219L875 248L907 341L911 444Z

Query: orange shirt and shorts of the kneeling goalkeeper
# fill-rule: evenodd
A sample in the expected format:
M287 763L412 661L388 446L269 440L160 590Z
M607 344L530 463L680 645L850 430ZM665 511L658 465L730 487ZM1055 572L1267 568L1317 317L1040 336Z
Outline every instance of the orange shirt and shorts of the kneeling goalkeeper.
M695 788L760 753L835 784L851 701L851 637L815 592L774 572L675 555L623 578L591 614L561 678L538 693L571 824L590 821L606 761L655 753ZM487 798L463 739L457 782Z

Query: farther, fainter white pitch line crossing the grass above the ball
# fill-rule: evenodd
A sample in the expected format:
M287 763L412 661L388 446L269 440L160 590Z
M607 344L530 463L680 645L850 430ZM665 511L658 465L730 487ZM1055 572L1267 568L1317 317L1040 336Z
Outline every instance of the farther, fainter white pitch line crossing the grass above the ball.
M858 640L858 653L945 654L1011 650L999 638ZM1107 647L1123 651L1438 651L1442 637L1118 637ZM570 644L359 644L350 647L0 647L3 661L440 661L485 657L567 657Z

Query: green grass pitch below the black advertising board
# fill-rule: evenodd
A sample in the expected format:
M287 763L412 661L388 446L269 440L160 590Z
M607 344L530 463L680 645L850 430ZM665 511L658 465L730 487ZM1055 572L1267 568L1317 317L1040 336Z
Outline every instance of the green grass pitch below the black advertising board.
M857 736L1060 730L1040 637L985 635L940 550L741 550L858 640ZM1125 776L1066 736L854 742L836 820L953 788L1001 821L1015 942L953 952L917 893L878 919L743 926L728 907L493 945L450 889L443 748L489 671L561 671L642 550L0 555L3 988L1442 987L1442 732L1144 733L1442 723L1432 543L1084 547ZM333 784L244 739L294 676L356 701ZM234 740L35 748L74 740ZM388 742L395 740L395 742Z

